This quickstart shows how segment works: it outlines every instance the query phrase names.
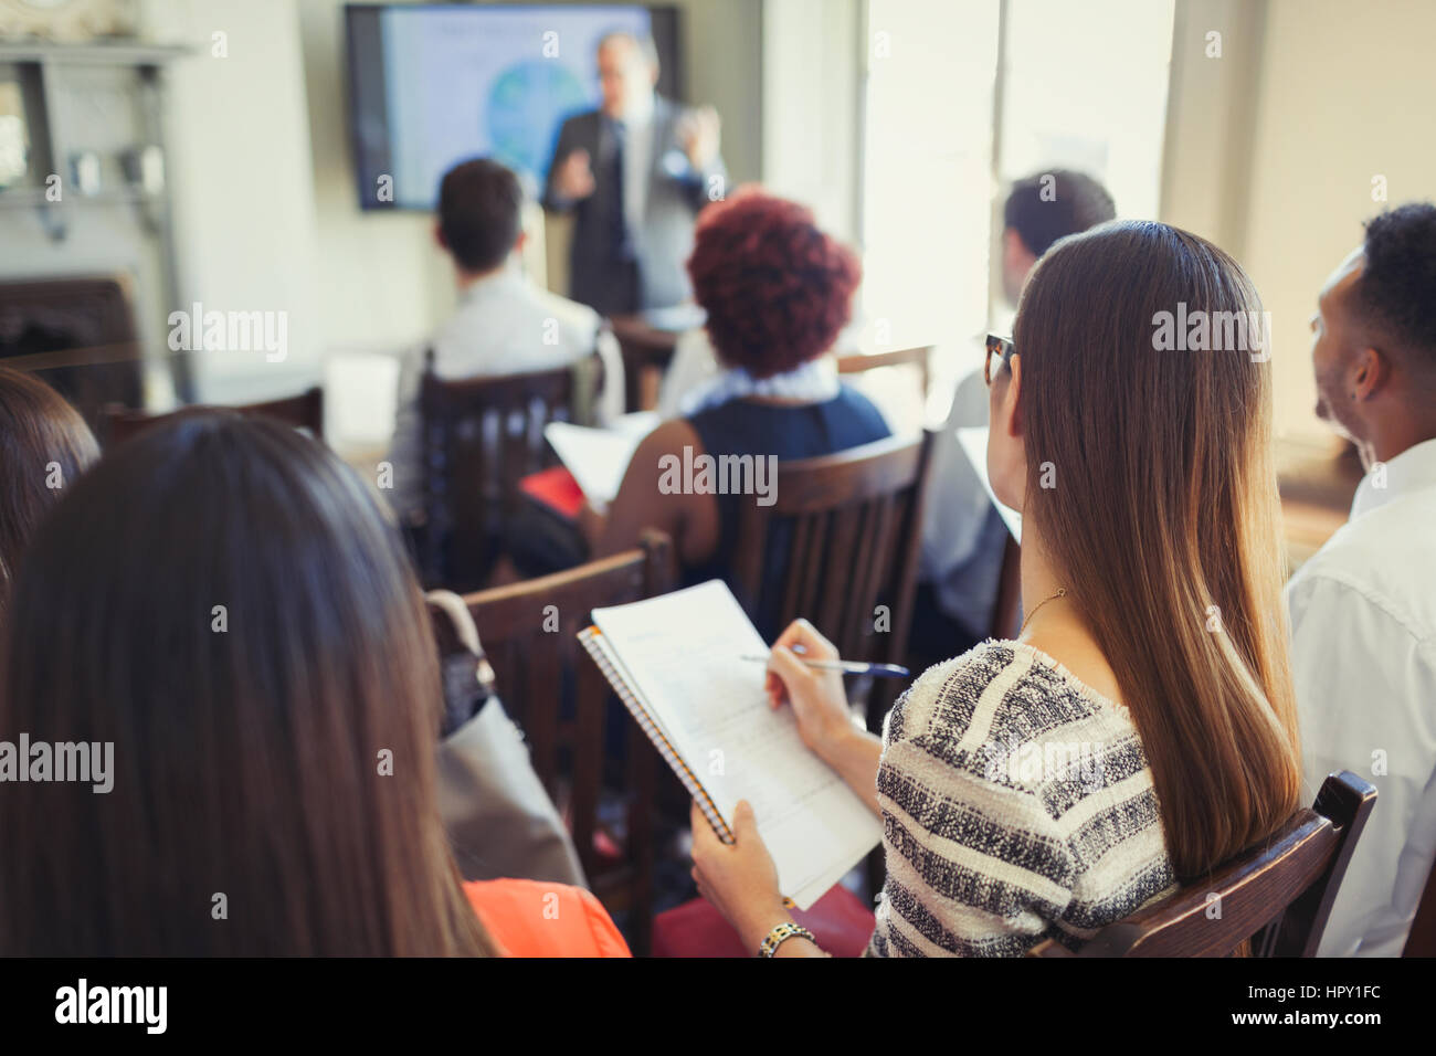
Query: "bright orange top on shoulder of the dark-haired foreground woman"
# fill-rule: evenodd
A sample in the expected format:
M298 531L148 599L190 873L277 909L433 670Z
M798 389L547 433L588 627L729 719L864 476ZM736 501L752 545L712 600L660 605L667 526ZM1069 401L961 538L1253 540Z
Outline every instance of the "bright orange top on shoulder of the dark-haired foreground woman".
M531 879L465 881L464 894L511 957L630 957L607 911L583 888Z

